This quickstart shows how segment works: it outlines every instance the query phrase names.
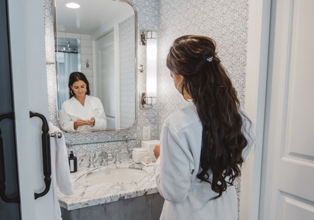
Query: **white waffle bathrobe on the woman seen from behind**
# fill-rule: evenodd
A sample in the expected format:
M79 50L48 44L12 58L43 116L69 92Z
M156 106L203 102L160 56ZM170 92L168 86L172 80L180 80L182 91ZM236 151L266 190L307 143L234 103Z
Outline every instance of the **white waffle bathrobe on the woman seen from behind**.
M245 123L246 122L246 123ZM244 121L244 126L249 123ZM253 135L253 128L250 129ZM252 141L243 151L245 158ZM237 220L235 186L229 186L218 199L210 184L200 182L202 124L193 103L170 115L160 134L160 156L155 164L157 188L165 198L161 220ZM211 173L209 172L211 177Z

